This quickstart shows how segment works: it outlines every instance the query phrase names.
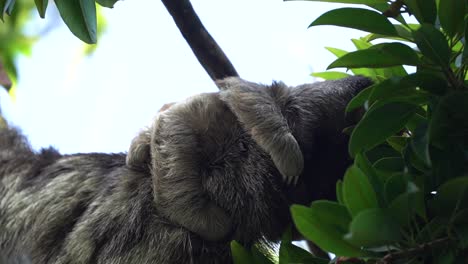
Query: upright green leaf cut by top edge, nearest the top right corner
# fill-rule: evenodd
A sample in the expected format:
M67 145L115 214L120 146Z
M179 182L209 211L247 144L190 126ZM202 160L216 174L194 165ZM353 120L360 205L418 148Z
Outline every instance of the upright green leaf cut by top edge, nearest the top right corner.
M463 0L438 1L440 25L450 37L463 33L466 3Z

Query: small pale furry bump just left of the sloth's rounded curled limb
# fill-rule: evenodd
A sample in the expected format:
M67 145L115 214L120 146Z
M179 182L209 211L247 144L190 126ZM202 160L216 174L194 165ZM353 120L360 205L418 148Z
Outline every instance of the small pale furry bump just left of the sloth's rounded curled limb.
M147 170L151 161L150 153L151 132L145 129L138 134L130 144L126 164L135 170Z

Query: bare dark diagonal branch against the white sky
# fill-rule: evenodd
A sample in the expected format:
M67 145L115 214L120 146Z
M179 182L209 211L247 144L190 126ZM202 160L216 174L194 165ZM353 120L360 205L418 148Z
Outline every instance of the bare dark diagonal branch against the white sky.
M238 77L236 69L203 26L189 0L161 0L213 81Z

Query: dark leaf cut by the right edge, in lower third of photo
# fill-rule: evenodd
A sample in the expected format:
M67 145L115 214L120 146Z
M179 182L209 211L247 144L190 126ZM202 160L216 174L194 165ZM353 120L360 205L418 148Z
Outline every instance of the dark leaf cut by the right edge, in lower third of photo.
M438 216L452 216L468 207L468 177L458 177L444 183L437 190L429 206Z

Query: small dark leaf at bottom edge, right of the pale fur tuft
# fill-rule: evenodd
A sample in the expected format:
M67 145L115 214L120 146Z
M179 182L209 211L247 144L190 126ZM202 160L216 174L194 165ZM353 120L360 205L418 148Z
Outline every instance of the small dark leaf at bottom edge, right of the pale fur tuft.
M281 243L279 252L279 264L305 263L328 264L328 260L314 257L307 250L291 243Z

